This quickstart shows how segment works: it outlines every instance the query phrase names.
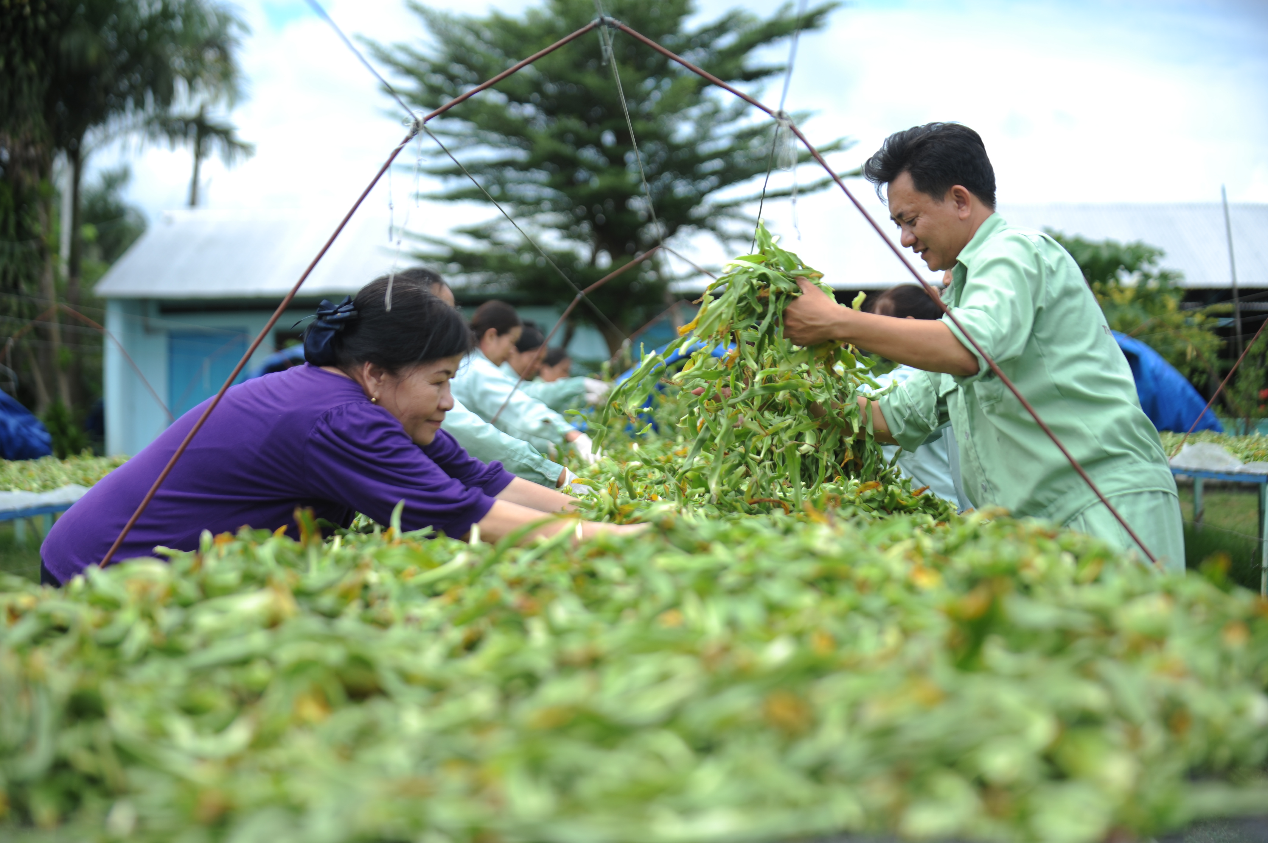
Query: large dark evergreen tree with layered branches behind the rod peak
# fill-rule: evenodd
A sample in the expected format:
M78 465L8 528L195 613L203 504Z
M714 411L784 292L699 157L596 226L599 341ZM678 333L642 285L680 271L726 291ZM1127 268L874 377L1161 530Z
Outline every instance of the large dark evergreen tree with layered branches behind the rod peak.
M801 15L785 5L767 19L733 10L695 27L687 24L690 0L615 0L605 11L724 81L752 86L784 72L779 63L758 62L757 51L799 28L823 27L836 5ZM411 8L431 33L430 44L370 47L404 80L402 94L420 109L440 105L596 16L592 0L547 0L522 16L453 15L413 0ZM765 115L628 35L611 32L610 39L650 208L598 32L429 124L577 286L662 237L709 232L747 246L756 221L743 209L753 196L718 194L760 179L771 162L773 122L757 119ZM799 123L806 117L794 115ZM446 183L426 198L488 203L430 138L422 143L432 156L426 172ZM838 139L822 150L844 147ZM563 306L573 298L573 288L501 214L456 235L418 233L417 256L512 302ZM663 255L653 257L593 293L606 319L586 307L574 313L602 331L615 351L625 333L664 307L670 271Z

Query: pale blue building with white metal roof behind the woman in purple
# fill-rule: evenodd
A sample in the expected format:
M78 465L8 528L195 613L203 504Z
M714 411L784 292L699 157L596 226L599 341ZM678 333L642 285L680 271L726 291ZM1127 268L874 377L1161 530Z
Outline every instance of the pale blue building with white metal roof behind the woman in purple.
M170 210L146 231L96 285L119 344L105 344L109 453L136 454L219 389L345 212ZM397 261L385 202L370 196L243 371L295 337L295 322L322 298L337 302L393 264L411 262L407 254ZM553 308L522 313L552 325L558 318ZM569 350L578 359L607 356L597 331L577 331Z

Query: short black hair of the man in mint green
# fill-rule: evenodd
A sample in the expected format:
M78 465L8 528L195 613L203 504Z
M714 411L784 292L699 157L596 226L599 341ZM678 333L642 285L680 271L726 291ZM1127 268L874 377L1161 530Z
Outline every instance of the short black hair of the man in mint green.
M876 185L877 196L881 185L904 172L912 174L917 190L938 202L962 185L988 208L995 207L995 170L981 136L967 125L926 123L894 132L864 164L864 177Z

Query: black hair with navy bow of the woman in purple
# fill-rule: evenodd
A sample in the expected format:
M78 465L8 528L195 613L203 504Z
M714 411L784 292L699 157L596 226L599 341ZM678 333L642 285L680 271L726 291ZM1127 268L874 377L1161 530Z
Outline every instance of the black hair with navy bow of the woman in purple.
M388 311L387 288L387 275L363 286L351 302L355 316L340 321L333 332L321 317L309 325L304 332L308 363L344 370L372 363L397 374L470 351L470 332L458 311L417 283L394 283Z

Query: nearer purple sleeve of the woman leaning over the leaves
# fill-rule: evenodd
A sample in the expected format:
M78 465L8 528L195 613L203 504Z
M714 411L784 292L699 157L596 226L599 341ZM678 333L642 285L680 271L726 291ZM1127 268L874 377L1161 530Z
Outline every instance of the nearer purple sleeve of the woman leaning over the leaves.
M486 474L492 470L454 447ZM304 468L316 494L345 503L379 524L387 524L393 507L404 501L401 526L406 530L430 526L462 536L493 506L484 488L450 475L406 435L396 418L372 404L344 404L326 412L308 435ZM500 465L497 470L502 470ZM470 467L467 474L474 474Z

